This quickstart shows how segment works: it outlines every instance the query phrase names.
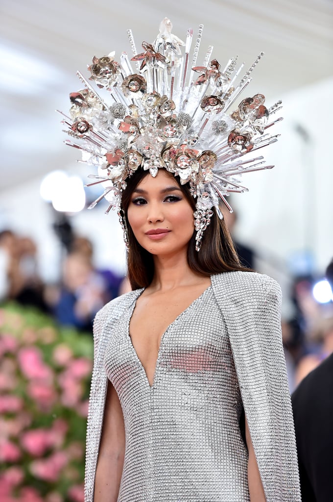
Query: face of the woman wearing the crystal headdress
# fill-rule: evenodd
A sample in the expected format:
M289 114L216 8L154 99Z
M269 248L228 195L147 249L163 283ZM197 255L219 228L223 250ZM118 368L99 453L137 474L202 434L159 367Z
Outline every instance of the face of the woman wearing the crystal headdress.
M138 183L127 218L138 243L153 255L186 251L194 231L193 209L174 176L164 169Z

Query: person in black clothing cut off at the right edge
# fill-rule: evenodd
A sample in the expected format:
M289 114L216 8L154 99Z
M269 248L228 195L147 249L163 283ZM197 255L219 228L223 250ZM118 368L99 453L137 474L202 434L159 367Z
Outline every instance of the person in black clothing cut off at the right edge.
M326 277L333 290L333 260ZM303 502L333 500L333 354L291 397Z

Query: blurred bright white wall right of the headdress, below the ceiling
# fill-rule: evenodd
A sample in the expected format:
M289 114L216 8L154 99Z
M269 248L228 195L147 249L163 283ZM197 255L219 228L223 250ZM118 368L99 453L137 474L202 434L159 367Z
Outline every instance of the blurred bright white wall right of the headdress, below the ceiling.
M308 250L318 273L333 256L332 91L329 79L282 97L281 137L262 150L275 167L244 175L250 191L233 199L239 238L277 263Z

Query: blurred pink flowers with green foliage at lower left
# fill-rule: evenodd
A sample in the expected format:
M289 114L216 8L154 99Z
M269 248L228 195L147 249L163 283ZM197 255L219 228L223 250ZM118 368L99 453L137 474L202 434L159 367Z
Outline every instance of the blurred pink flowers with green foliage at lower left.
M83 502L92 337L0 309L0 500Z

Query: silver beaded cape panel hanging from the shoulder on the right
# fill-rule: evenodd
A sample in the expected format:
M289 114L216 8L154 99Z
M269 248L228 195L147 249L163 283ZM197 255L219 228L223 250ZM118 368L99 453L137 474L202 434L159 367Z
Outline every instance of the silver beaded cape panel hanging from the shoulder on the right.
M281 336L281 290L252 272L212 277L267 502L299 502L295 433Z

